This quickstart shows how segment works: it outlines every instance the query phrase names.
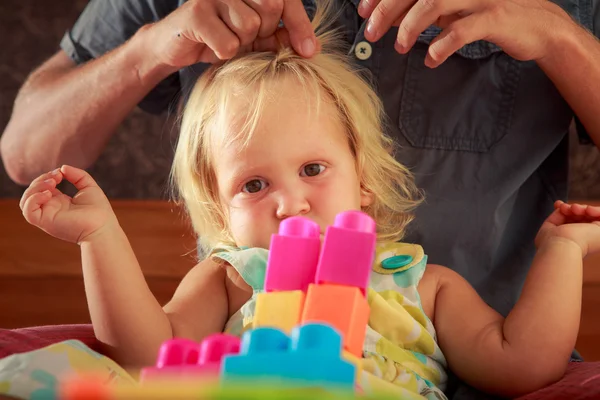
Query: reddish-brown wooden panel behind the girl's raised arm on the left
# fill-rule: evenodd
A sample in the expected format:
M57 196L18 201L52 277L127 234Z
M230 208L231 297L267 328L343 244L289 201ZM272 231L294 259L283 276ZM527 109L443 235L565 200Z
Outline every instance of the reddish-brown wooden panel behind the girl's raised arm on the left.
M177 206L113 201L161 304L195 262L196 241ZM29 225L18 200L0 200L0 328L89 322L79 246Z

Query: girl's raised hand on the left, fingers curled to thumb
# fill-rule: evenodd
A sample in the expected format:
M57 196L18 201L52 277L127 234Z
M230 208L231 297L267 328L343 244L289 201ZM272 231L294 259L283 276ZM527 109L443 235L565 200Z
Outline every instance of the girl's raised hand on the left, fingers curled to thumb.
M56 188L63 179L75 186L75 196ZM68 165L31 182L19 206L27 222L67 242L81 243L118 224L110 202L94 179Z

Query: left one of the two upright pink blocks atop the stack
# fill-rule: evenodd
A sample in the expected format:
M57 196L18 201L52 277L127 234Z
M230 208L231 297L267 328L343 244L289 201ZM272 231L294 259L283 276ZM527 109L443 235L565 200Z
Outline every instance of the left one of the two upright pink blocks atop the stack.
M319 225L305 217L286 218L271 236L265 291L306 291L315 281L321 239Z

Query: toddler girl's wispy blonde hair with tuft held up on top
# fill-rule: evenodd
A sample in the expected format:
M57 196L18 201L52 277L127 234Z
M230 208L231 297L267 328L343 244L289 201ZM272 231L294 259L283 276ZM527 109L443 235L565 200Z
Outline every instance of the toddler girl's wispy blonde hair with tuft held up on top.
M289 77L307 95L317 96L317 108L321 100L337 108L356 159L361 189L373 196L363 211L377 223L378 240L401 239L412 220L411 211L421 201L421 193L412 174L392 155L393 142L383 133L379 97L339 50L339 34L329 29L334 19L331 10L329 1L321 2L313 18L321 51L312 58L303 58L290 48L247 53L212 66L196 83L183 112L171 181L205 250L217 243L235 245L213 169L215 140L227 140L218 135L230 123L228 104L234 96L246 94L244 126L229 139L247 143L267 103L268 85Z

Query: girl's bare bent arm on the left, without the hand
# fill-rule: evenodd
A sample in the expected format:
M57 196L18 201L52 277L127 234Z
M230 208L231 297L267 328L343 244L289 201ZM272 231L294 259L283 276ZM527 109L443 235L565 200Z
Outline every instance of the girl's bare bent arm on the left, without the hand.
M228 316L225 273L211 259L184 277L171 301L158 303L125 233L106 231L81 244L84 281L94 332L121 365L154 365L173 337L201 341L221 332Z

